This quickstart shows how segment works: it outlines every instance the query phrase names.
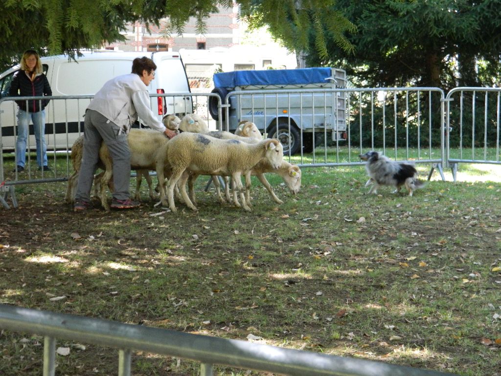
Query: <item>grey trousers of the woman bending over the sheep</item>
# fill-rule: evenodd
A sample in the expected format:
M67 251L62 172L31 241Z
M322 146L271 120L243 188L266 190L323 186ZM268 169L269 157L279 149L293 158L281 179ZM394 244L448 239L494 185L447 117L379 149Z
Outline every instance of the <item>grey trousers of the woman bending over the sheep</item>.
M84 149L82 164L78 176L76 200L90 201L90 192L96 165L99 160L99 148L104 141L113 158L113 198L127 200L130 184L130 150L127 134L115 123L99 112L87 110L84 121Z

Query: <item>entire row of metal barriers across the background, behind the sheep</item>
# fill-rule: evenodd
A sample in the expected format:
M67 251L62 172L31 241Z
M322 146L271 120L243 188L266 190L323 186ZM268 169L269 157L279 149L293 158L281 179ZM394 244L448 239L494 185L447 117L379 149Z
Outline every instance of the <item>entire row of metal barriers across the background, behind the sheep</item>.
M281 140L288 159L301 167L360 165L358 154L377 148L395 160L431 164L428 179L437 168L445 180L443 166L451 167L455 180L460 162L501 163L500 91L455 88L445 97L439 88L273 89L230 92L224 102L212 93L167 93L151 97L171 98L174 106L177 101L183 109L186 105L183 98L196 98L194 110L207 119L211 129L234 130L240 120L253 121L265 135ZM83 115L92 97L16 98L51 99L46 109L45 137L48 149L58 150L51 157L54 165L57 155L64 154L66 166L39 174L30 167L34 157L28 153L27 178L23 179L26 175L6 173L7 155L3 152L0 203L5 208L9 208L9 195L17 207L15 185L67 180L71 173L71 145L83 131ZM222 121L209 116L210 101L214 101L216 117ZM2 106L8 102L11 108L6 111ZM15 150L14 99L0 98L0 107L0 149L5 151L10 143ZM34 149L34 145L31 136L28 150Z

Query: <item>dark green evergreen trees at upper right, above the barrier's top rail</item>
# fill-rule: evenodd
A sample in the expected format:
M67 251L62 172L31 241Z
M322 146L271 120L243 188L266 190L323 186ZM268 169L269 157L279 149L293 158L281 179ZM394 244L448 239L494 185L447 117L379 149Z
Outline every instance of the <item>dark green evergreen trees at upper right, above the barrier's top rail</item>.
M499 9L501 0L338 0L332 10L357 26L346 36L355 53L326 33L330 57L310 48L308 63L343 67L360 87L499 85Z

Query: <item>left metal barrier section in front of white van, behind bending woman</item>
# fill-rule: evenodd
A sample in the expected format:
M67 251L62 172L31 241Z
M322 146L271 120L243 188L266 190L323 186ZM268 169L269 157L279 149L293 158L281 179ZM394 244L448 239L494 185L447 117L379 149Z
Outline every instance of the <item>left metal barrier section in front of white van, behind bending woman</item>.
M217 124L210 119L207 110L208 98L215 94L210 93L166 93L152 94L152 98L164 98L164 101L173 104L176 108L186 108L186 98L194 98L189 103L193 103L193 108L202 117L208 120L209 126L216 129ZM0 205L9 209L8 197L12 198L12 203L17 208L18 203L15 195L15 186L21 184L33 184L55 181L66 181L72 173L71 166L71 146L73 142L83 134L85 109L92 100L93 95L69 95L69 96L46 96L46 97L16 97L0 98ZM26 168L23 174L11 169L17 164L16 141L17 141L17 105L16 101L44 100L50 99L46 107L45 139L50 157L51 171L37 170L35 157L32 151L36 149L34 126L29 126L29 136L27 138ZM155 102L154 100L152 102ZM154 103L152 103L153 107ZM156 113L157 108L152 108ZM181 113L180 113L181 115ZM13 152L12 156L9 152ZM56 161L63 156L66 159L64 167L57 167ZM14 158L9 169L6 169L6 160ZM48 156L49 158L49 156Z

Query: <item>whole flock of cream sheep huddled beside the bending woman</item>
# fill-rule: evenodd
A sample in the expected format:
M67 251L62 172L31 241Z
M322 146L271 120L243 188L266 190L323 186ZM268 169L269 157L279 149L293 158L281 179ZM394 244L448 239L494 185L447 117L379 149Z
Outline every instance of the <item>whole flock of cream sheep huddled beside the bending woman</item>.
M168 205L172 212L176 211L174 194L187 207L197 210L193 186L199 175L212 176L219 202L232 201L234 205L246 211L250 211L251 175L258 177L278 204L283 202L266 179L266 172L279 174L293 194L299 192L300 168L283 160L281 143L276 139L263 139L254 123L241 122L235 134L209 131L207 123L197 114L187 114L182 120L175 115L167 115L163 118L163 123L167 128L182 133L169 140L161 132L133 128L128 135L131 169L137 172L135 200L140 200L142 177L148 183L150 198L153 201L158 200L152 189L150 170L157 173L162 205ZM82 150L83 136L72 146L71 159L75 172L68 179L68 203L75 200ZM98 167L102 172L94 179L95 190L99 192L103 208L109 210L106 188L113 190L113 161L104 143L99 150ZM245 177L245 185L241 183L242 175ZM221 195L217 176L225 177L224 197ZM232 198L227 177L231 178ZM189 187L189 195L186 192L186 184Z

